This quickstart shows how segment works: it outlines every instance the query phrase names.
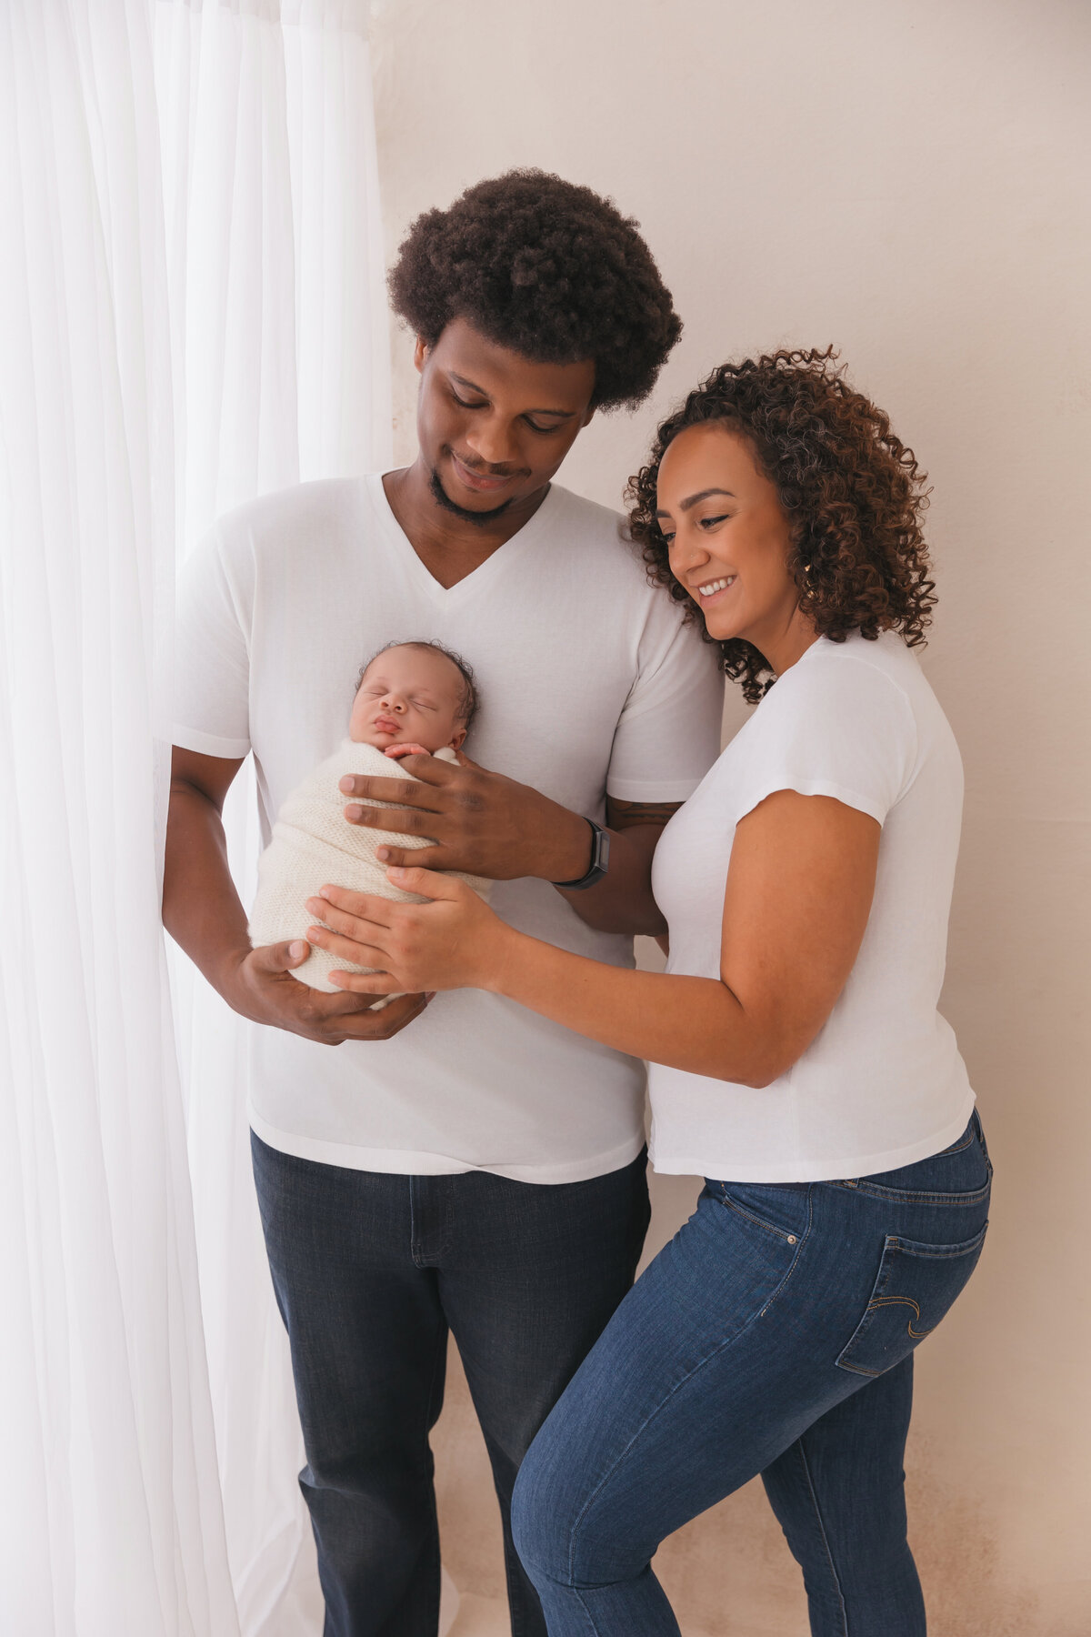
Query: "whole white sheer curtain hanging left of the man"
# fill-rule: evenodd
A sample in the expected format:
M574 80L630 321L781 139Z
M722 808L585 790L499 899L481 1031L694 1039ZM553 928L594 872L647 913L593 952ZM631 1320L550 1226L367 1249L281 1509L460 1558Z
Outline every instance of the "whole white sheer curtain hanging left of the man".
M177 555L388 457L370 98L365 0L0 5L13 1637L321 1626L240 1028L177 963L175 1044L157 900Z

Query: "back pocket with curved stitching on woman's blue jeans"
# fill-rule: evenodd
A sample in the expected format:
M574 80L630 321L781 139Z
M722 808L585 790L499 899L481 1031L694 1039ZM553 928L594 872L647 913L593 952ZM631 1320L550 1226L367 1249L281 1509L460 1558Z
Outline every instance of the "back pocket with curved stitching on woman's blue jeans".
M837 1355L842 1370L882 1375L936 1329L977 1267L988 1223L962 1244L918 1244L887 1234L864 1318Z

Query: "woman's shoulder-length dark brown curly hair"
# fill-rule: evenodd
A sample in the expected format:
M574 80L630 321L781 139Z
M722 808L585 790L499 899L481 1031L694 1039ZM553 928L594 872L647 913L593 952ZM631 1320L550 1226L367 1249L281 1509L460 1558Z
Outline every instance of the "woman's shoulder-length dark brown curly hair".
M656 434L651 458L626 488L630 529L643 547L648 578L700 609L671 573L667 542L656 522L659 463L679 432L708 421L743 434L792 524L788 568L800 611L819 637L844 642L851 630L873 642L882 630L901 632L906 645L924 642L936 604L921 534L927 507L926 473L890 431L890 419L844 380L833 347L779 352L743 363L721 363ZM713 642L715 638L705 638ZM720 642L723 670L756 704L775 676L749 642Z

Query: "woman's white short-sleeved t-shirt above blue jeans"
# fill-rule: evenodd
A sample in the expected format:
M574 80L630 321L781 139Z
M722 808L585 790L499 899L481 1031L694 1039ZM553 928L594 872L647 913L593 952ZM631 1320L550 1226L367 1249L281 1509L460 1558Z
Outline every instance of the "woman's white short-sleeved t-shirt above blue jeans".
M833 796L882 825L860 953L818 1038L770 1085L651 1067L656 1170L815 1182L937 1154L973 1108L954 1033L936 1010L962 761L900 637L813 643L674 815L653 866L669 972L720 976L734 827L774 791Z

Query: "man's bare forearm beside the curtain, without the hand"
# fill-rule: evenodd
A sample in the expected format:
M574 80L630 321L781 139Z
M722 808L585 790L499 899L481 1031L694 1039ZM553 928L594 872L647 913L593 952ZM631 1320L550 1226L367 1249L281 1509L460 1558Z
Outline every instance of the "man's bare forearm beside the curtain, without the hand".
M172 781L164 863L164 927L219 994L250 948L247 915L227 868L227 838L214 804Z

